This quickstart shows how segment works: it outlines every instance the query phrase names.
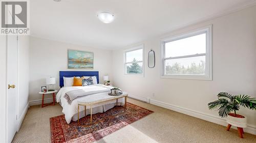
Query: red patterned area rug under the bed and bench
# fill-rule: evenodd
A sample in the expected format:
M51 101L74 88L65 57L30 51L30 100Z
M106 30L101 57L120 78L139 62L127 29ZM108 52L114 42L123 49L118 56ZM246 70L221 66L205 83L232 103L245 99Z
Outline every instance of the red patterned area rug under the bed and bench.
M65 116L50 118L51 142L94 142L106 135L109 135L149 114L153 111L127 103L127 109L118 106L104 113L93 115L93 122L90 123L90 116L77 122L71 121L68 124Z

